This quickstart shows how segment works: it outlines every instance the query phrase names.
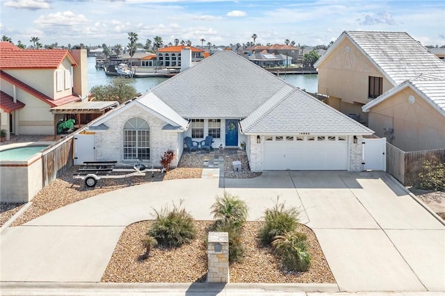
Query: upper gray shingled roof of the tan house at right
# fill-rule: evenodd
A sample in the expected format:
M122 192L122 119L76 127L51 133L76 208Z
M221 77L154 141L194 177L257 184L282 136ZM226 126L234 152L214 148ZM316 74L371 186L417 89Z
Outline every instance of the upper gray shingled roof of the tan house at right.
M394 85L420 74L445 74L445 63L405 32L346 31L343 34L357 44Z

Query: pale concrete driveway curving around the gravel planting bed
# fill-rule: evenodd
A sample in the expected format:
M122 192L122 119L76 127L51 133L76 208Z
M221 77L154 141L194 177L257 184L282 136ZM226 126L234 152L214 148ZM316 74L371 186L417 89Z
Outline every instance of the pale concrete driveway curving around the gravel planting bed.
M445 227L383 172L264 172L147 183L65 206L1 234L1 281L98 282L124 227L184 199L197 220L224 190L258 220L276 198L301 211L341 291L445 291Z

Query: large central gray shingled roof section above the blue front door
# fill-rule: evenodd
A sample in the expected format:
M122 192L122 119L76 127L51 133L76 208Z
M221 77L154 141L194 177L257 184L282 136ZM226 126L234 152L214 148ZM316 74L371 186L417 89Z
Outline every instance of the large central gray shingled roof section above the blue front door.
M232 51L220 51L152 88L184 118L245 118L288 85Z

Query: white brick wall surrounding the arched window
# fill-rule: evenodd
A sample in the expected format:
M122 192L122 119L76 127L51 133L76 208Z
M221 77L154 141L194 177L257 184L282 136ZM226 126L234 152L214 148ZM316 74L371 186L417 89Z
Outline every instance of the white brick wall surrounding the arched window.
M159 161L167 149L172 149L178 155L181 151L179 145L179 135L175 131L163 131L167 124L158 117L147 113L137 106L131 106L122 113L111 117L104 122L109 127L108 130L95 131L96 161L118 161L118 163L134 163L134 160L124 160L124 124L132 117L143 118L150 129L150 159L146 163L152 163L154 167L161 167ZM178 157L176 157L170 167L176 167Z

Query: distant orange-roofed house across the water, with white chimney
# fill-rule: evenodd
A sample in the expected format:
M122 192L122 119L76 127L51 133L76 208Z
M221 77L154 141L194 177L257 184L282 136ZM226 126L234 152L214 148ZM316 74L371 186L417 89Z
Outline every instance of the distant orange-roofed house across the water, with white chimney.
M161 67L181 67L181 51L186 45L164 47L156 51L157 65ZM192 51L192 62L204 60L204 50L196 47L188 47Z

